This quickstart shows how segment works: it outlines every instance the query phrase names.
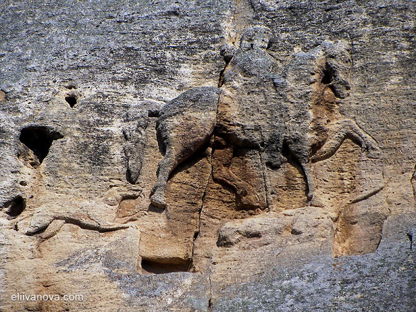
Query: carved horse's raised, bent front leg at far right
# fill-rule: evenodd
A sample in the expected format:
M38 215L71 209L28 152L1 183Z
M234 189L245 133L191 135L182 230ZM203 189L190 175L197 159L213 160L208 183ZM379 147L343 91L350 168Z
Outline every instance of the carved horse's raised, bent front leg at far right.
M319 162L334 155L345 139L352 139L367 152L370 158L379 158L381 150L376 141L351 119L336 121L329 125L328 139L325 144L312 157L313 162Z

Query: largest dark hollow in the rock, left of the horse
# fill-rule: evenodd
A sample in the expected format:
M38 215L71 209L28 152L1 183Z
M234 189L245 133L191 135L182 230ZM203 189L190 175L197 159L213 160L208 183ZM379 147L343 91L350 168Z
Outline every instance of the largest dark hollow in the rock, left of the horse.
M19 140L33 150L33 154L42 163L49 153L53 140L62 138L63 136L59 132L51 132L45 127L33 126L22 129Z

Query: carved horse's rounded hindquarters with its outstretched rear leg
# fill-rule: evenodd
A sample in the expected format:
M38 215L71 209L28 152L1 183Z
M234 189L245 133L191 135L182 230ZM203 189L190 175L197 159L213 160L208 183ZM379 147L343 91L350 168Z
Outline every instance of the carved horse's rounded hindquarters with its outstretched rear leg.
M166 207L165 189L173 170L208 144L216 126L218 95L216 87L193 88L160 110L156 127L164 158L150 198L155 207Z

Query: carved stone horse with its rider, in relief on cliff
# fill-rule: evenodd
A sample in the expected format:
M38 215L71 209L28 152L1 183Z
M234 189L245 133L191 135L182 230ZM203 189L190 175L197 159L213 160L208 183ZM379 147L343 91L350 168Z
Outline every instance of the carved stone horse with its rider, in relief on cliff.
M216 121L211 114L216 109L216 96L193 94L196 98L190 100L189 93L195 93L191 89L185 92L187 96L181 95L167 105L166 110L172 110L174 105L177 108L175 114L162 113L158 123L166 153L159 164L151 198L153 205L166 205L164 191L168 176L202 143L207 143L214 127L214 179L234 188L250 209L265 209L268 203L229 168L238 149L258 150L261 162L274 168L279 168L284 161L283 154L291 157L301 166L306 178L310 205L321 205L314 198L312 161L331 157L347 138L360 145L369 157L379 157L374 139L337 111L337 103L349 91L351 60L345 44L324 42L307 53L296 53L278 76L275 60L266 51L268 37L270 31L263 27L243 34L241 49L232 57L221 79ZM205 98L198 99L198 96ZM172 126L191 123L187 110L192 105L182 105L183 98L205 103L197 105L199 112L194 114L202 127L193 129L191 136L180 134L187 126ZM207 107L209 114L201 114Z

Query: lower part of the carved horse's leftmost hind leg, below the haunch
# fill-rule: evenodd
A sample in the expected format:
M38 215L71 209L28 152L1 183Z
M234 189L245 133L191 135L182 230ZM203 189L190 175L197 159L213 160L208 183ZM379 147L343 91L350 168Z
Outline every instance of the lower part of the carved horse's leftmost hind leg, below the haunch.
M166 148L166 154L159 162L157 169L157 181L153 187L153 195L150 197L150 202L153 206L158 208L166 207L165 190L169 175L173 169L178 165L178 156L175 155L171 148Z

